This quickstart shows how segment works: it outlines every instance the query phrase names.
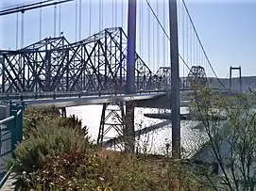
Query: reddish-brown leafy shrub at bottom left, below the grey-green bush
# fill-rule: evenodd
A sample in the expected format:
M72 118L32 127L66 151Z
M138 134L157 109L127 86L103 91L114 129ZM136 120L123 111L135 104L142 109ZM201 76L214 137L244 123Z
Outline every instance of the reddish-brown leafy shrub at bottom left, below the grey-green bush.
M97 183L97 175L92 173L98 167L94 157L94 153L62 153L50 159L43 168L24 174L23 178L32 189L88 190L95 187L92 183ZM86 167L82 168L83 165Z

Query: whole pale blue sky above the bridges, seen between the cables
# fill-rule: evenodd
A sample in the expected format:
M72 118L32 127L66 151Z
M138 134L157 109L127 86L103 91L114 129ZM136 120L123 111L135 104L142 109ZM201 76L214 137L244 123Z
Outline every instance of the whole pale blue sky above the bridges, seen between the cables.
M12 5L36 1L37 0L0 0L0 4L2 3L0 6L5 8ZM123 26L125 31L127 31L127 5L125 4L122 6L121 4L122 1L126 3L127 0L103 0L104 20L103 25L101 26L99 24L98 0L91 1L91 34L94 34L99 29L111 26ZM116 8L113 8L113 14L112 1L119 3ZM90 0L82 0L82 39L90 36L89 2ZM140 8L141 2L144 2L142 8ZM167 0L165 0L165 3L163 0L150 1L150 4L156 12L157 2L159 18L162 24L165 22L164 28L168 32ZM256 3L253 3L253 0L187 0L186 2L193 22L196 25L199 38L202 41L207 56L210 58L217 75L220 77L227 77L231 65L242 66L243 75L255 75L256 51L253 45L255 46L256 44L256 24L254 21L256 18ZM150 68L156 71L159 66L170 65L168 62L168 40L164 36L162 29L159 24L157 24L157 21L151 12L150 17L148 17L148 7L145 4L145 0L138 0L138 4L137 52L143 57L145 63L148 63ZM163 8L165 8L164 17ZM115 17L115 9L117 9L117 17ZM200 64L206 68L208 75L213 75L213 72L211 72L206 65L205 58L203 58L202 54L199 54L202 52L196 51L199 50L198 43L196 43L196 45L190 44L190 41L194 40L194 35L190 36L190 33L188 33L189 37L186 39L187 32L191 29L191 26L187 25L187 17L182 19L182 7L180 6L178 9L180 16L179 54L183 56L189 66ZM57 10L59 11L59 8L57 8ZM61 5L61 31L64 32L65 37L69 41L76 40L75 10L75 3ZM53 37L53 12L54 8L43 8L42 38L49 36ZM59 16L59 13L57 15ZM123 18L123 21L121 18ZM100 23L102 23L102 21L100 21ZM150 30L148 30L149 25ZM183 28L183 26L185 28ZM187 29L187 26L189 30ZM16 14L1 17L0 28L0 49L15 49ZM150 31L150 33L148 31ZM59 34L59 18L57 19L57 33ZM157 36L157 34L159 34L159 36ZM21 38L19 37L19 46L21 45L20 40ZM25 14L25 45L37 40L39 40L39 10L27 11ZM165 46L163 46L163 44L165 44ZM196 55L193 54L194 49ZM183 51L185 52L183 53ZM187 57L187 51L190 55L189 57ZM200 57L200 59L198 57ZM184 74L187 73L186 67L184 67L183 64L180 64L180 75L183 75L183 68Z

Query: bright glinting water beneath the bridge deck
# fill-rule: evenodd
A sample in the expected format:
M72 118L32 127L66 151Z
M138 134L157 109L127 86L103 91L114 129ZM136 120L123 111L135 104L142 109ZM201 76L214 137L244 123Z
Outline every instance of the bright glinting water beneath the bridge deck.
M100 124L102 105L85 105L67 108L67 115L76 115L82 119L83 125L89 129L89 134L92 140L96 140ZM163 119L149 119L144 117L145 113L159 113L159 109L151 108L135 108L135 130L145 128L164 121ZM164 111L163 111L164 112ZM180 113L186 113L186 108L180 108ZM116 120L116 119L111 119ZM113 122L113 121L111 121ZM194 129L196 121L181 121L181 147L185 151L185 156L193 154L205 140L202 139L203 132L199 129ZM115 130L109 132L108 137L118 135ZM166 143L171 143L172 129L171 124L162 126L162 128L149 132L146 135L141 135L137 138L137 144L140 151L146 153L162 154L166 151Z

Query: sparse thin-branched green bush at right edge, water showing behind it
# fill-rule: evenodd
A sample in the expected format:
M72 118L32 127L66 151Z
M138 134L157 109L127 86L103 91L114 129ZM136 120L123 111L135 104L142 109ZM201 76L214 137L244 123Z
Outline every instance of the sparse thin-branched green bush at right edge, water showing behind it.
M256 112L253 94L221 96L207 87L195 87L191 110L204 125L209 147L205 161L219 165L211 181L216 190L254 190L256 187ZM227 121L213 116L227 117ZM211 153L211 154L209 154ZM209 180L213 177L207 176Z

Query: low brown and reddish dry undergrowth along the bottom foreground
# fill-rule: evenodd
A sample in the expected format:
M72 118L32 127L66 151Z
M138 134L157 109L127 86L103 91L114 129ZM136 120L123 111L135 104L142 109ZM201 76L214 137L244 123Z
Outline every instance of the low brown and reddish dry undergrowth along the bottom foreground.
M179 168L178 166L176 166ZM172 190L174 167L162 161L146 160L111 151L60 154L42 168L26 173L23 178L37 190ZM183 168L184 169L184 168ZM187 170L187 169L186 169ZM191 176L179 177L180 190L196 190Z

